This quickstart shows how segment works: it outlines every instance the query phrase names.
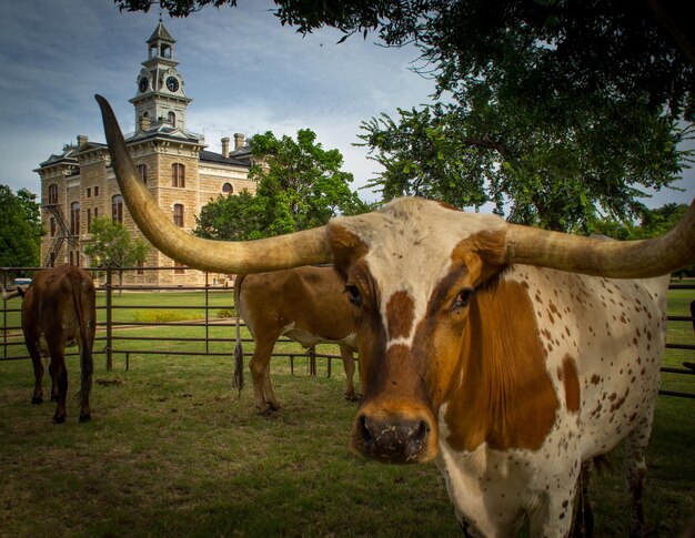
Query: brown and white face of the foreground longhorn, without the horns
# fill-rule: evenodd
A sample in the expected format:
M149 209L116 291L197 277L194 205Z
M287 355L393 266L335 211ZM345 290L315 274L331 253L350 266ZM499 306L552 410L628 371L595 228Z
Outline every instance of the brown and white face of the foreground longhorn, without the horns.
M364 400L355 450L389 463L436 455L435 415L460 367L469 296L498 270L505 229L497 216L420 199L331 222L357 317Z

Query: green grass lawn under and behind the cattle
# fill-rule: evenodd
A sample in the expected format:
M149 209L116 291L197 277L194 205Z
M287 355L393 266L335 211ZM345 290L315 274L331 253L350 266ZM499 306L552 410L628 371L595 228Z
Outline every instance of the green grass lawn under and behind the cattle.
M123 294L119 301L145 305L148 295ZM182 295L157 294L155 304L170 307ZM691 296L691 291L671 292L669 313L687 315ZM200 294L189 301L202 304ZM128 312L119 315L129 321ZM118 333L172 338L201 331ZM210 331L233 338L233 327ZM669 341L672 331L692 343L689 324L671 324ZM117 349L200 345L117 344ZM114 354L112 372L105 372L103 354L97 355L93 420L87 424L77 422L79 366L70 357L71 405L61 426L51 424L52 403L29 403L29 362L0 363L0 537L460 536L433 465L384 466L350 454L356 404L342 399L340 362L333 362L329 378L325 361L319 362L318 377L309 377L304 359L296 361L294 376L288 359L273 359L283 408L265 418L253 408L250 379L240 396L231 386L232 347L215 344L213 351L229 352L222 357L133 354L128 372L123 353ZM299 351L294 344L278 347ZM245 348L249 353L251 344ZM333 346L322 351L336 353ZM665 362L694 359L693 352L682 353L669 349ZM668 383L695 392L693 376L674 377ZM651 536L678 536L695 515L694 412L693 399L659 397L647 456ZM626 536L622 457L616 450L613 469L594 477L596 536Z

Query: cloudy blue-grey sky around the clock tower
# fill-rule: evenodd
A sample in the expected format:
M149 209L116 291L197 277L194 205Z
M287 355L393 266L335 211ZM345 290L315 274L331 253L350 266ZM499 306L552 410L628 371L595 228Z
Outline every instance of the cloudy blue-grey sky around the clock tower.
M293 135L309 128L325 149L336 148L345 170L364 185L377 171L359 142L360 123L396 108L427 101L432 81L413 73L413 49L384 49L325 30L302 38L268 10L271 1L203 9L188 19L163 21L177 40L189 105L188 129L204 134L208 149L220 139L273 131ZM134 130L137 77L147 59L145 40L159 11L121 13L111 0L6 2L0 20L0 184L39 192L32 172L78 134L103 142L94 93L114 108L124 132ZM689 202L695 174L662 192L654 203ZM374 195L361 191L365 200Z

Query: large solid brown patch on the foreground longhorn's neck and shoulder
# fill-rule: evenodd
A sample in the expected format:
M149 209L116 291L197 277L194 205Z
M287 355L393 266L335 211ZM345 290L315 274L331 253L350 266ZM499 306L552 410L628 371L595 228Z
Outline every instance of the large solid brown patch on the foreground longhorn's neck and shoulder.
M555 423L557 396L532 303L520 283L497 281L471 303L462 376L445 420L456 450L537 450Z

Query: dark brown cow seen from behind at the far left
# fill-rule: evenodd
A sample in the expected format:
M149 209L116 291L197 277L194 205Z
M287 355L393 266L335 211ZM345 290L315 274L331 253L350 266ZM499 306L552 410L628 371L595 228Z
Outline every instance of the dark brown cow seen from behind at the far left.
M18 286L8 294L3 290L6 298L18 295L24 297L22 331L33 364L36 382L31 403L43 402L41 357L50 358L51 399L58 402L53 422L57 424L66 422L68 369L64 349L77 345L80 349L81 369L78 393L80 422L90 420L89 395L92 387L92 347L97 322L97 298L92 278L87 271L63 264L37 272L27 290Z

